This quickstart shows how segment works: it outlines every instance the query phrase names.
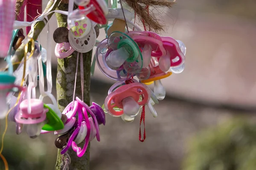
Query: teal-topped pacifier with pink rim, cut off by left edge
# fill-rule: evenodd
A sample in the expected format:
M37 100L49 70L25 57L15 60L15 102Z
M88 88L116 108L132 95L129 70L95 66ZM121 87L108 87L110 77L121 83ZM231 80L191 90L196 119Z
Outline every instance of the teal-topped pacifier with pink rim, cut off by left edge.
M22 91L23 87L14 84L15 76L8 74L7 72L0 72L0 119L6 117L9 111L9 106L6 101L6 97L10 91Z

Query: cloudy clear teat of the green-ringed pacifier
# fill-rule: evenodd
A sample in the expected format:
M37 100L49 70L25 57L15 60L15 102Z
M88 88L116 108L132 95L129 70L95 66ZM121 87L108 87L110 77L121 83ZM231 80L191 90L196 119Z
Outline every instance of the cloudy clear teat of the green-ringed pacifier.
M128 51L124 47L121 47L115 51L111 51L111 53L106 58L106 63L109 68L114 70L123 65L123 63L126 59L128 59L128 57Z

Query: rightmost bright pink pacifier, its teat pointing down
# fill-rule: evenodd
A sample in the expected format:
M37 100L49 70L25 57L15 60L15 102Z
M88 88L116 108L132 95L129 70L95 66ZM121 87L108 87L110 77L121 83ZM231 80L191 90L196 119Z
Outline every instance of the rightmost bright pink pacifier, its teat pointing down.
M170 67L178 67L185 61L185 56L180 50L179 43L172 37L162 37L166 55L159 58L159 67L162 71L168 71Z

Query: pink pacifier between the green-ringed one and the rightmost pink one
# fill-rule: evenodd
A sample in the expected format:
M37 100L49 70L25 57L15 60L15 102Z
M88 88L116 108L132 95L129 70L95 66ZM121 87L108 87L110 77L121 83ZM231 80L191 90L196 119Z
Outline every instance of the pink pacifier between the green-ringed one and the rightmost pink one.
M150 31L130 31L128 35L131 35L142 51L143 68L148 67L151 56L163 57L166 55L162 39L158 34Z

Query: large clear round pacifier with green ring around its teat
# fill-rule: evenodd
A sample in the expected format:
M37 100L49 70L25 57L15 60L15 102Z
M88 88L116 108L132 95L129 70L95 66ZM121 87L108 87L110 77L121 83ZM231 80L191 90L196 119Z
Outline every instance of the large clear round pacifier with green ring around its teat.
M126 34L114 31L96 49L100 70L114 80L125 80L141 70L143 58L139 47Z

